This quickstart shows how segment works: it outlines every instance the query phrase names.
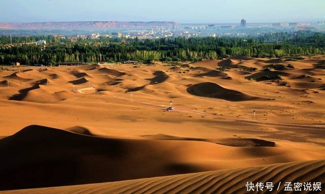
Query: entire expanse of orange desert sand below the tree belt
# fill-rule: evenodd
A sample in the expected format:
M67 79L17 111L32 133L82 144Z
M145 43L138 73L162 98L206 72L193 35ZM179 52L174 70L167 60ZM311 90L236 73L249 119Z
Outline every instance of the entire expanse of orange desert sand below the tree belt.
M324 80L324 56L0 70L0 193L324 182Z

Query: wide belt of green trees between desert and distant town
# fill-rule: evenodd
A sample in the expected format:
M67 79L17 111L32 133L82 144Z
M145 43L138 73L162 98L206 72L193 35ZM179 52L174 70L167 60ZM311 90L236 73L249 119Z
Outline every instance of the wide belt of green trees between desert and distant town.
M59 62L99 61L122 62L138 60L180 62L217 59L231 56L248 57L299 57L301 55L325 54L325 33L281 33L280 43L264 43L272 40L273 34L258 37L196 37L185 39L159 38L156 40L125 40L102 37L98 40L55 40L53 36L13 37L13 43L29 43L46 40L49 44L0 46L0 64L55 65ZM9 42L9 43L8 43ZM0 44L10 44L9 36L0 36Z

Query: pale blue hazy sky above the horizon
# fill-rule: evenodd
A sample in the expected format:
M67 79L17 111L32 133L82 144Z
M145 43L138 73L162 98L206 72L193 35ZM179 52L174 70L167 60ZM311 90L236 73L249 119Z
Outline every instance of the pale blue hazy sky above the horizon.
M1 0L0 22L325 20L325 0Z

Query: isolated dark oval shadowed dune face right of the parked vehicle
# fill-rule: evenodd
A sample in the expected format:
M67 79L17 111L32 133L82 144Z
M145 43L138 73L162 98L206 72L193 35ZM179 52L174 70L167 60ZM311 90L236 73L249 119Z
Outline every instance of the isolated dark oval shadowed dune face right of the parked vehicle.
M187 92L196 96L218 98L228 101L247 101L262 99L244 94L236 90L226 89L211 82L191 85L187 88Z

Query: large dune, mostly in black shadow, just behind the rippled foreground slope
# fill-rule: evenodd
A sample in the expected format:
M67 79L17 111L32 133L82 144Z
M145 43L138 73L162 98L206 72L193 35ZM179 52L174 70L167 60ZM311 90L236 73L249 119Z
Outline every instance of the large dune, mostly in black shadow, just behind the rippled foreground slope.
M230 138L217 143L191 139L116 139L93 136L83 127L67 130L71 132L33 125L1 139L3 159L0 172L3 176L0 181L3 184L0 189L85 184L216 170L222 169L224 160L228 160L229 164L243 159L250 159L247 162L251 163L263 157L283 160L287 152L285 149L271 149L274 142L257 139ZM251 146L271 147L257 149ZM230 152L236 158L231 159L226 154ZM49 174L51 177L47 177Z

